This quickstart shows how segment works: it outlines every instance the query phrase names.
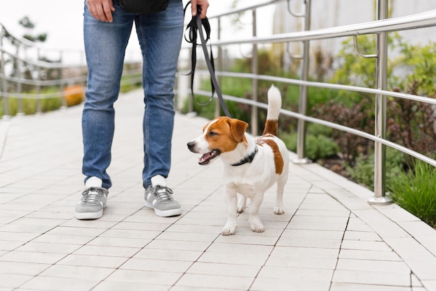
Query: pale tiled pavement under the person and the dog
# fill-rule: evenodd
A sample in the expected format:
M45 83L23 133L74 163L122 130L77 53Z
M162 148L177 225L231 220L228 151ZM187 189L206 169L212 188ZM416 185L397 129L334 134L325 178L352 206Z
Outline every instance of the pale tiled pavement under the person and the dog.
M101 219L79 221L81 107L0 120L0 290L436 290L436 231L317 164L291 164L283 215L261 207L221 236L221 162L198 166L186 143L203 118L177 114L169 185L180 217L143 207L141 91L116 103ZM291 158L295 155L291 154Z

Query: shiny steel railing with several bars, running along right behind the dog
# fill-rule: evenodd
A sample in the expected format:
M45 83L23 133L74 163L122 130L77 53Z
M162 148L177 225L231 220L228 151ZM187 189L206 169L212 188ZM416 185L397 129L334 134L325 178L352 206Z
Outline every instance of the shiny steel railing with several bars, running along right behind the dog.
M333 129L339 129L343 132L349 132L352 134L356 134L357 136L362 136L366 139L370 139L371 141L375 141L374 148L374 196L368 199L368 203L391 203L391 198L385 195L385 176L386 176L386 149L385 146L389 146L391 148L395 148L396 150L400 150L401 152L405 152L407 155L411 155L412 157L416 157L417 159L421 159L428 164L436 166L435 159L427 157L426 155L422 155L419 152L416 152L410 148L405 148L404 146L400 146L397 143L393 143L386 139L386 128L387 128L387 120L386 120L386 107L387 107L387 96L403 98L407 100L414 100L419 102L426 102L429 104L435 104L436 100L429 97L398 93L393 91L387 91L387 33L390 31L403 31L410 29L418 29L430 26L436 26L436 10L430 10L425 13L418 13L415 15L407 15L404 17L396 17L388 19L388 0L377 0L377 20L373 22L366 22L361 24L352 24L346 26L336 26L328 29L317 29L311 30L311 0L305 0L305 10L302 14L295 14L290 11L295 17L304 17L304 29L302 31L292 32L292 33L280 33L267 37L257 37L256 36L256 10L258 8L275 5L279 2L283 2L284 0L275 0L275 1L267 1L263 4L257 4L254 6L248 6L246 8L238 8L235 10L228 11L226 13L222 13L219 15L215 15L214 17L209 17L210 19L217 19L218 23L218 38L221 36L223 31L221 31L221 18L226 17L228 15L238 15L244 12L251 12L253 17L253 34L251 37L238 39L238 40L215 40L212 41L211 45L213 47L217 47L219 56L217 57L217 68L222 68L222 56L221 52L223 47L229 45L252 45L252 68L254 68L251 74L246 73L238 73L238 72L223 72L218 69L217 76L221 77L233 77L233 78L248 78L252 80L253 84L253 99L247 100L241 97L228 96L225 95L224 99L231 100L234 102L240 102L243 104L249 104L252 107L251 113L251 123L253 123L251 129L254 129L252 132L254 135L257 134L257 109L258 108L267 108L266 104L257 102L256 95L256 84L258 80L265 81L274 81L283 84L295 84L299 85L299 111L293 112L288 109L282 109L281 113L286 116L291 116L293 118L297 118L298 126L297 126L297 159L294 161L295 163L306 163L309 162L306 159L305 155L305 136L306 129L305 123L317 123L320 125L324 125L327 127L331 127ZM289 5L289 0L287 1ZM314 82L307 81L308 80L308 68L309 68L309 44L313 40L325 40L328 38L339 38L344 36L352 36L355 38L360 35L365 34L375 34L376 38L376 54L371 56L376 58L376 71L375 79L376 79L376 88L364 88L359 86L345 86L341 84L329 84L322 82ZM302 66L301 66L301 74L300 79L288 79L283 77L274 77L274 76L265 76L257 74L257 45L259 44L273 44L273 43L287 43L287 42L302 42L303 43L303 53L302 53ZM356 46L357 47L357 46ZM188 47L184 47L188 49ZM359 56L362 56L358 51L356 52ZM368 56L365 56L368 57ZM207 70L198 70L197 74L208 74ZM311 116L306 115L306 102L307 102L307 88L308 87L318 87L318 88L331 88L337 90L345 90L345 91L357 91L361 93L373 93L375 95L375 134L368 134L366 132L362 132L357 129L353 129L351 127L346 127L343 125L338 125L335 123L328 122L326 120L313 118ZM210 95L210 92L204 91L194 91L194 93L198 95ZM191 101L192 102L192 101ZM219 115L219 102L216 104L216 115Z

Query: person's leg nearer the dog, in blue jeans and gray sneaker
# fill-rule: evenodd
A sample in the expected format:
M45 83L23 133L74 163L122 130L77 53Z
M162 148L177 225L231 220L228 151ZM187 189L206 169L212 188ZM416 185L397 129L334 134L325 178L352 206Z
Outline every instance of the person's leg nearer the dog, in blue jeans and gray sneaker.
M147 189L146 205L152 205L160 216L178 215L181 207L173 200L165 178L171 167L173 88L183 35L182 1L170 0L166 10L140 15L135 24L144 59L143 186Z

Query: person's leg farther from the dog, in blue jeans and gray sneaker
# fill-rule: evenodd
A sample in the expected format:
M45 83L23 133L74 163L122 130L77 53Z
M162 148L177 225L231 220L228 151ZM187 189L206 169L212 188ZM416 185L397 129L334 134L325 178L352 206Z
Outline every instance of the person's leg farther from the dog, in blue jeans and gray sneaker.
M84 159L82 173L86 176L77 219L100 218L106 207L111 180L107 168L111 163L114 138L114 102L120 91L125 47L132 31L134 15L119 7L114 22L100 22L91 16L85 5L84 44L88 64L86 102L82 115Z

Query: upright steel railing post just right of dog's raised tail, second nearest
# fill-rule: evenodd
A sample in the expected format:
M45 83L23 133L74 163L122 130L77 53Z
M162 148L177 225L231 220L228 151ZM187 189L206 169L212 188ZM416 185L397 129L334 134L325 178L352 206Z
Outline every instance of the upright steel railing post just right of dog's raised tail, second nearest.
M305 0L306 9L304 13L304 31L311 29L311 0ZM302 81L307 81L309 77L309 40L303 41L303 58L302 58ZM300 114L307 113L307 86L299 86L299 109ZM306 155L306 123L304 120L298 120L297 127L297 159L295 164L307 164L311 161L305 157Z

